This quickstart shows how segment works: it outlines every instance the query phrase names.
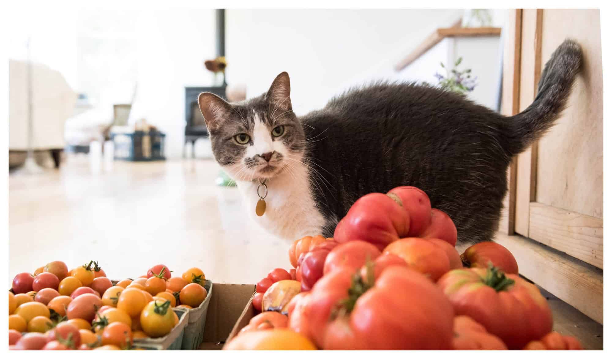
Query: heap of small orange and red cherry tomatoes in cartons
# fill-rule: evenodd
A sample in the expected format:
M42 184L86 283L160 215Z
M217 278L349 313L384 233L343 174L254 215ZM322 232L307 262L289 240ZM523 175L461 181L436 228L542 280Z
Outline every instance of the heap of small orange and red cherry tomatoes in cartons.
M171 276L155 265L140 278L114 283L97 262L68 270L59 260L20 273L9 291L9 349L135 349L134 339L166 336L206 298L199 268Z

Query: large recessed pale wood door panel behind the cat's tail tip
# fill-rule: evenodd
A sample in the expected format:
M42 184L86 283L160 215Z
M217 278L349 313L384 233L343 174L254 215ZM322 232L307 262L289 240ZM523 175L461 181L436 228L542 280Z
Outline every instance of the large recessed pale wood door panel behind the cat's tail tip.
M543 59L548 59L565 38L571 37L583 49L584 66L568 107L539 142L535 200L603 218L603 79L599 10L547 9L543 12L543 25Z

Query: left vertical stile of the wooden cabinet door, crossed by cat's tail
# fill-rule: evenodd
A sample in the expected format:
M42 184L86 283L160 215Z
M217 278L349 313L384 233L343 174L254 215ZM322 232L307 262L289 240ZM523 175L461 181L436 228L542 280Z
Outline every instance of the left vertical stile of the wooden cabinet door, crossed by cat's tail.
M523 9L521 20L521 73L519 111L523 111L535 98L534 69L535 34L537 28L537 10ZM517 197L515 206L515 232L529 236L529 202L531 202L532 176L531 176L531 147L517 156Z

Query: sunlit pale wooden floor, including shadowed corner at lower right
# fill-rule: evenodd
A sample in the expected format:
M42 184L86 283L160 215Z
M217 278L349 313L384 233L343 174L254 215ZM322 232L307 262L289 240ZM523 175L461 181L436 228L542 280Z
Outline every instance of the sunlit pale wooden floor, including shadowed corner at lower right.
M114 162L92 168L72 155L60 170L9 175L9 276L63 260L97 260L112 279L157 263L191 266L218 283L254 284L290 268L289 244L247 217L235 188L219 187L212 160ZM602 349L603 326L550 293L554 330Z

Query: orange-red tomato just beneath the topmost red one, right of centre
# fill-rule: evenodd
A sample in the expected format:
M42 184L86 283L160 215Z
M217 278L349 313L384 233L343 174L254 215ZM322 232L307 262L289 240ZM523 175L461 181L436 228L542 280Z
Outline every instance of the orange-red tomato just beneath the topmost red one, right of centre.
M425 274L434 282L453 267L461 268L457 251L442 240L435 242L424 238L403 238L389 244L384 252L401 257L410 268Z

